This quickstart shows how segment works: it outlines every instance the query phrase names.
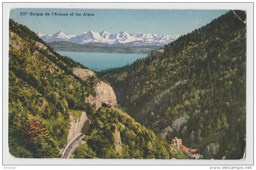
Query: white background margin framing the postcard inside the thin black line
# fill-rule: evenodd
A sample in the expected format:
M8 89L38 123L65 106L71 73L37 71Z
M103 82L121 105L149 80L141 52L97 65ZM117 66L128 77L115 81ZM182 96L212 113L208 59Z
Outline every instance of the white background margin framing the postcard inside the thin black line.
M10 8L241 9L247 13L246 157L243 160L22 159L8 154L8 19ZM3 3L3 165L253 165L253 3ZM57 168L57 167L56 167ZM192 167L193 168L193 167Z

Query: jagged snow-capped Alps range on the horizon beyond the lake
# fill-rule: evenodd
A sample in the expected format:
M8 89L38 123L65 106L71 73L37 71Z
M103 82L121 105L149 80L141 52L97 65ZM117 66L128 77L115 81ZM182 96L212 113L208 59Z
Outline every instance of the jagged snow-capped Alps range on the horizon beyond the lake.
M157 35L157 34L144 34L144 33L135 33L129 34L126 31L119 32L117 34L110 34L107 31L102 32L84 32L83 35L66 35L62 31L55 33L54 35L43 35L37 33L37 36L42 38L45 42L53 41L70 41L79 44L87 44L91 42L102 42L108 44L118 44L118 43L128 43L134 42L134 45L157 45L163 46L172 41L175 41L179 38L180 35ZM137 43L137 44L136 44Z

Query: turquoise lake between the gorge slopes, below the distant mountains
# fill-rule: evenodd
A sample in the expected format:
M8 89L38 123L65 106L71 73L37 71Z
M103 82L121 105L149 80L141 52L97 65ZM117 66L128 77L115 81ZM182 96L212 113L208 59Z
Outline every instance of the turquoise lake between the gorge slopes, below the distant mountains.
M91 53L91 52L69 52L56 51L60 55L66 55L76 62L83 64L91 70L122 67L127 63L131 64L135 60L145 58L147 54L120 54L120 53Z

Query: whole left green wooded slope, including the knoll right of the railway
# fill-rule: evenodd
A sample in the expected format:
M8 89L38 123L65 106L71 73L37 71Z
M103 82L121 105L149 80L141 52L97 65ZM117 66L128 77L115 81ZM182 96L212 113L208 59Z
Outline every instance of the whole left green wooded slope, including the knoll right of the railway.
M57 54L12 19L8 57L8 146L13 156L60 158L67 145L72 109L76 114L85 110L92 122L75 158L185 158L126 114L113 108L96 110L85 103L88 96L97 95L99 79L94 74L83 79L76 76L73 67L86 67Z

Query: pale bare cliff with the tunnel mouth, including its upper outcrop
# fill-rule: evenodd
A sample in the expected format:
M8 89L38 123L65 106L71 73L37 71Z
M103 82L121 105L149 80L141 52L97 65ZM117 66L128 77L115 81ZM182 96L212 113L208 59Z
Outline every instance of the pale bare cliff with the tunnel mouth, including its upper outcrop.
M73 68L73 73L80 77L81 79L86 79L90 76L95 76L95 73L88 69L81 69L81 68ZM96 96L93 97L92 95L89 95L85 99L86 103L95 104L96 108L100 108L102 106L115 106L116 103L116 96L112 89L112 87L103 81L100 81L95 85L95 91Z

